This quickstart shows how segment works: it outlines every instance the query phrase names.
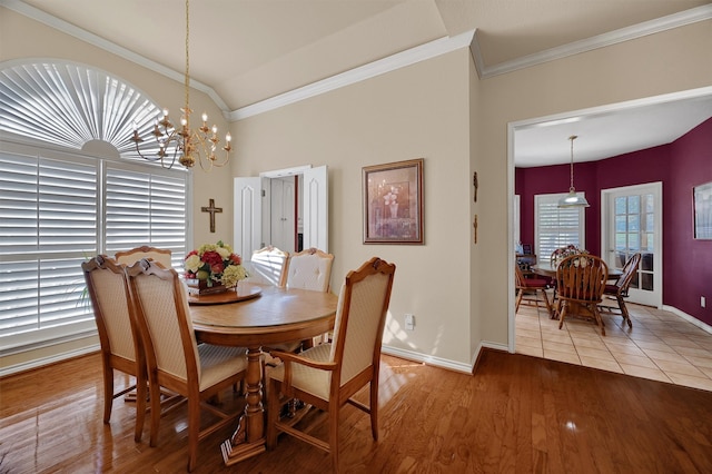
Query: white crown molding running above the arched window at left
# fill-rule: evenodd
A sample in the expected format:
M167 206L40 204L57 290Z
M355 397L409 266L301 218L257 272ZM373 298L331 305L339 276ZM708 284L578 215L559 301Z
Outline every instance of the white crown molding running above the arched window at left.
M184 83L185 82L185 75L182 72L178 72L175 71L170 68L167 68L156 61L152 61L141 55L138 55L134 51L130 51L123 47L120 47L111 41L108 41L103 38L101 38L100 36L97 36L95 33L91 33L87 30L83 30L81 28L78 28L67 21L60 20L57 17L53 17L49 13L43 12L42 10L39 10L32 6L29 6L27 3L24 3L23 1L20 0L0 0L0 6L6 7L17 13L23 14L28 18L31 18L32 20L39 21L41 23L47 24L48 27L51 27L56 30L59 30L63 33L70 34L77 39L80 39L81 41L88 42L89 45L96 46L97 48L101 48L106 51L109 51L116 56L119 56L123 59L127 59L131 62L135 62L139 66L145 67L146 69L149 69L154 72L158 72L159 75L162 75L169 79L172 79L177 82ZM217 92L215 91L215 89L212 89L211 87L195 80L194 78L190 78L190 87L199 90L201 92L205 92L206 95L208 95L210 97L210 99L212 99L212 101L222 110L222 116L225 116L227 118L227 113L229 111L229 108L227 107L227 103L225 103L225 101L222 100L222 98L220 96L217 95Z

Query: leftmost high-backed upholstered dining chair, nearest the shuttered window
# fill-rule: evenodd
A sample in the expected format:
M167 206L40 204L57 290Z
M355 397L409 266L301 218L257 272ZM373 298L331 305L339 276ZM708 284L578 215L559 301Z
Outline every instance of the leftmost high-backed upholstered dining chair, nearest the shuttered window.
M141 441L146 415L146 358L136 322L129 310L129 289L123 266L106 255L81 264L87 293L97 322L103 374L103 423L111 417L113 399L136 391L136 431ZM135 377L136 384L113 392L113 371Z

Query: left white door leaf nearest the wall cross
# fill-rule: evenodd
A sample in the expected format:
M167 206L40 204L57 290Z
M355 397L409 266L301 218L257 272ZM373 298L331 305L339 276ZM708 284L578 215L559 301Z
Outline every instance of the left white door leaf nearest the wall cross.
M235 251L249 261L254 250L263 248L261 178L235 178L233 201L235 208Z

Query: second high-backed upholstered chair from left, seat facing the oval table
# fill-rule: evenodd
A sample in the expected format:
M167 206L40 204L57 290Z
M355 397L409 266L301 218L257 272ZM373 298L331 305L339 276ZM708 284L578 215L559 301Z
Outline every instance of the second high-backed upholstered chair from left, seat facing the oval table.
M198 443L234 423L241 412L226 413L208 399L245 377L247 350L241 347L198 345L190 319L187 293L174 269L142 259L126 268L131 307L146 350L151 403L150 445L158 443L160 423L158 386L188 399L188 471L196 467ZM200 428L201 408L217 423Z

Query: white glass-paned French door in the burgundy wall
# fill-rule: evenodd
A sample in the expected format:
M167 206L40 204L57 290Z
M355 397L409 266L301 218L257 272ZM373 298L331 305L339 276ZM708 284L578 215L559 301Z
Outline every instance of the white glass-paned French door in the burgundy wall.
M622 268L629 257L642 254L629 300L662 306L662 182L601 191L602 250L612 268Z

